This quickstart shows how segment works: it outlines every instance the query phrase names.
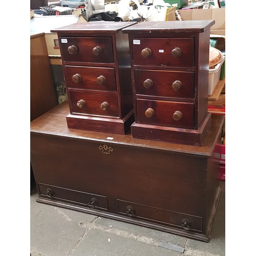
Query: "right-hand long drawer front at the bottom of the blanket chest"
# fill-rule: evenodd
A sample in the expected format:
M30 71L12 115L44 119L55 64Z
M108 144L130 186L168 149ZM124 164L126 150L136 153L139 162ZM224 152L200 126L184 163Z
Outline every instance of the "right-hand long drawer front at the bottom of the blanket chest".
M169 224L184 230L202 231L202 218L186 215L176 211L170 211L141 205L133 202L117 200L118 212L125 216Z

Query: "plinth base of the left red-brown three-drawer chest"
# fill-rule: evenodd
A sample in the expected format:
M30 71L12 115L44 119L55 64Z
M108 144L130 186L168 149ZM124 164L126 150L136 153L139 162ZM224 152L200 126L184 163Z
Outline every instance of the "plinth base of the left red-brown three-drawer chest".
M66 119L70 129L124 135L130 131L130 126L134 122L134 111L131 111L123 119L73 114L69 114Z

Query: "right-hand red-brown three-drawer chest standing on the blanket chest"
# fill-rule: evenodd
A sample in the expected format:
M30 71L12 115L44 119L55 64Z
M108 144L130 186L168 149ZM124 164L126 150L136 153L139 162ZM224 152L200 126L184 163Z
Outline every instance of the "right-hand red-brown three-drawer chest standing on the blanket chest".
M132 136L201 145L207 112L209 34L214 20L142 22L129 34L135 122Z

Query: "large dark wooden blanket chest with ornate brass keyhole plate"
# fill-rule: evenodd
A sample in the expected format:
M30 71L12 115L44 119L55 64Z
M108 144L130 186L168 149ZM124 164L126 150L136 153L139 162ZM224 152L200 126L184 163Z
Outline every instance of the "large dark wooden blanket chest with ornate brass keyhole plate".
M68 129L67 101L31 122L37 202L208 241L222 115L202 146Z

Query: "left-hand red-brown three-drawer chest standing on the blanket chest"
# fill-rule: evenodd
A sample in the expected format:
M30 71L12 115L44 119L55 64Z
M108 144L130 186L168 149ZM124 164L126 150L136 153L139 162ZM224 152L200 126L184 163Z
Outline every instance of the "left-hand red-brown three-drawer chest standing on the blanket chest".
M57 32L69 128L125 134L134 121L128 36L135 22L76 23Z

